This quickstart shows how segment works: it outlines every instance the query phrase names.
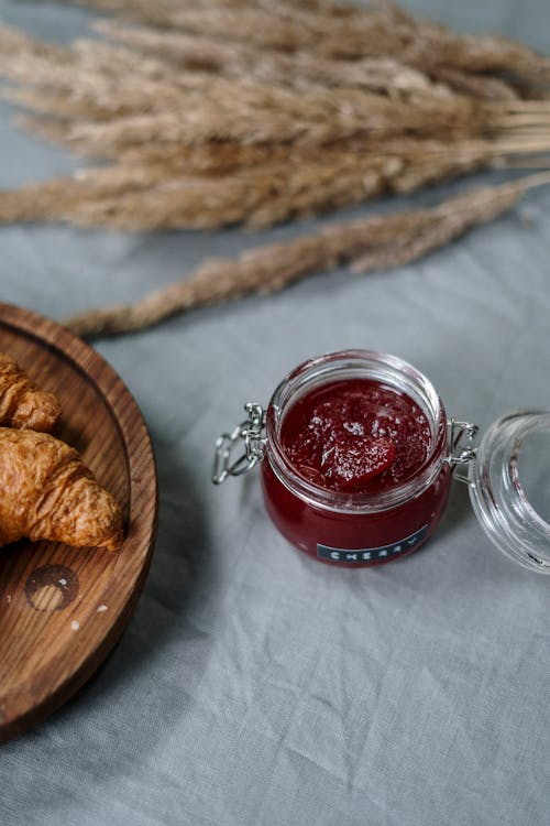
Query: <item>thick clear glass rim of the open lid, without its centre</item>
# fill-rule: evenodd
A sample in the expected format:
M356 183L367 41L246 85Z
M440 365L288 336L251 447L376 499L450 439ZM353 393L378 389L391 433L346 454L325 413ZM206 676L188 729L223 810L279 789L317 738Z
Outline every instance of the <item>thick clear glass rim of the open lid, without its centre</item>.
M543 434L550 445L549 411L518 411L497 419L470 464L469 492L491 542L529 570L550 574L550 524L529 502L518 475L518 453L532 434ZM550 470L550 455L548 465Z

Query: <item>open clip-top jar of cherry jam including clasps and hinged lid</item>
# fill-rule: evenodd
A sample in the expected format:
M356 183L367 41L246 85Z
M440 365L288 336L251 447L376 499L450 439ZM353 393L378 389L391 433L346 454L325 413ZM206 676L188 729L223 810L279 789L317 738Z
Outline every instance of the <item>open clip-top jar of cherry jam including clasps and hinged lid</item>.
M477 446L476 425L448 420L429 379L370 350L306 361L279 383L265 411L251 402L245 410L248 419L217 441L212 480L260 465L272 521L315 559L362 568L418 550L443 514L454 474L469 485L474 511L499 550L550 573L550 525L535 513L517 475L526 441L537 460L548 457L550 413L504 416ZM532 456L524 468L532 470ZM546 467L544 459L537 491L549 478Z

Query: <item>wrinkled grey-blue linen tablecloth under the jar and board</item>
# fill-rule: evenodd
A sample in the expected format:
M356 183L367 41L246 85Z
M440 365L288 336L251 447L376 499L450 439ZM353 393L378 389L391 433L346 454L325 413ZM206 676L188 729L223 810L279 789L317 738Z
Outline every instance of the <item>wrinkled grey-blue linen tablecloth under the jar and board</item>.
M550 53L546 0L406 6ZM53 2L0 10L54 41L89 19ZM1 115L1 187L75 169L20 133L13 107ZM134 237L2 228L0 298L61 319L138 298L206 253L310 226ZM465 487L453 487L424 551L358 573L294 551L268 522L257 476L210 483L213 439L244 401L267 400L323 351L402 356L451 414L482 427L513 409L550 409L549 260L550 193L539 191L415 265L336 271L97 341L151 430L158 541L105 667L0 749L2 826L550 824L549 580L491 545Z

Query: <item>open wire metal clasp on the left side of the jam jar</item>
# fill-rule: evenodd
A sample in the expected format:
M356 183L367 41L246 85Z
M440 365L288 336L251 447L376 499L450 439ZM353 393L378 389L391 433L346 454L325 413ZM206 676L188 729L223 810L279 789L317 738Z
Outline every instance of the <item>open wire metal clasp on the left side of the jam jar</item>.
M248 419L231 431L222 433L216 441L212 481L221 485L228 476L241 476L252 470L264 458L267 439L265 436L265 411L256 402L246 402ZM244 453L231 460L235 445L244 442Z

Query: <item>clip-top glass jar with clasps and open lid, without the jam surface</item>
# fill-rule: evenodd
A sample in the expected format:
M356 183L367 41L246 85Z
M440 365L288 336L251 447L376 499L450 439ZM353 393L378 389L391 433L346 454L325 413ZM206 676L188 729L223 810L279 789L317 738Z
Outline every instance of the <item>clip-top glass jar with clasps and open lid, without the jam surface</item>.
M309 480L298 472L282 442L285 417L299 400L355 379L411 400L429 426L424 461L409 478L378 491L333 490ZM448 420L443 402L421 372L395 356L369 350L308 360L278 384L266 411L254 403L245 410L248 420L217 442L212 479L220 483L260 464L267 513L280 533L309 556L360 568L413 553L436 530L453 472L468 466L468 476L455 475L470 486L474 510L490 537L520 564L550 573L550 526L531 507L518 479L519 447L534 434L548 437L550 414L504 417L476 447L477 427ZM244 453L232 460L242 443ZM540 456L540 449L536 453ZM540 485L534 482L534 488Z

